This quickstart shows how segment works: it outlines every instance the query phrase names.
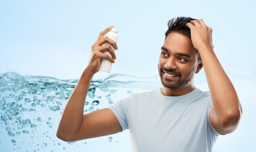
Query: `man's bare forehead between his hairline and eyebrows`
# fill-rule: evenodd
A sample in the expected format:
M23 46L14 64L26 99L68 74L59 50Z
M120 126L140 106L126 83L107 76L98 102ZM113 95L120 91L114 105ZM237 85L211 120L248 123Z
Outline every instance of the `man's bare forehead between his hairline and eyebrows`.
M190 56L196 55L191 38L176 32L171 32L166 37L163 47L167 48L170 53L186 53Z

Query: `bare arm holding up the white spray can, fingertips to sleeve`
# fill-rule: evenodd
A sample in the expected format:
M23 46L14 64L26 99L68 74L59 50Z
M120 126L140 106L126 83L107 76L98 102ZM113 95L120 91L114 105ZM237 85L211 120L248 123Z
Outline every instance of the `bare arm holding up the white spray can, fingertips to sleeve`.
M56 136L63 141L78 141L82 139L100 137L121 132L122 130L117 117L108 108L96 110L83 115L83 107L90 82L92 81L93 75L99 72L101 59L108 59L112 63L114 63L114 59L116 59L115 53L110 45L102 46L107 42L115 49L118 49L117 44L113 40L108 37L104 37L112 27L113 26L110 26L102 31L97 41L92 45L88 66L83 71L83 74L63 109L56 132ZM106 50L110 52L114 59L109 55L102 53Z

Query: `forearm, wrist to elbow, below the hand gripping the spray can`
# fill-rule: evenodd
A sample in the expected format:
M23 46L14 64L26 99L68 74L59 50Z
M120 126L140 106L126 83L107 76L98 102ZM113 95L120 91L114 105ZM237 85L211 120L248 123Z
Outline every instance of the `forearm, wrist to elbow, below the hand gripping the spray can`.
M87 69L83 71L63 109L57 136L70 137L79 130L83 123L83 107L93 75Z

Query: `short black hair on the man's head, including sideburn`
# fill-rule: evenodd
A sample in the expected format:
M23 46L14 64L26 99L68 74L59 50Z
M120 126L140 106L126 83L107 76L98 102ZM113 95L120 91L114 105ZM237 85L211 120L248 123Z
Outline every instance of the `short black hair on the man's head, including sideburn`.
M166 31L165 35L165 39L166 37L171 33L171 32L177 32L180 33L182 35L188 36L191 38L191 32L189 27L186 26L187 23L189 23L191 20L197 20L194 18L190 18L190 17L177 17L177 18L173 18L171 20L168 21L167 25L168 25L168 30ZM198 53L198 51L197 51ZM200 54L198 53L198 62L201 61L201 57Z

